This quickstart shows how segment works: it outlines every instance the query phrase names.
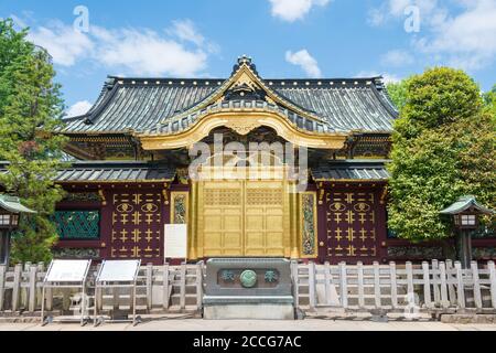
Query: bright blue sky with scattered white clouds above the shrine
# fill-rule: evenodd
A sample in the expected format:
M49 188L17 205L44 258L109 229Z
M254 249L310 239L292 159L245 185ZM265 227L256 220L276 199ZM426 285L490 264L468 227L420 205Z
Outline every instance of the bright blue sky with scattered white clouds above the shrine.
M241 54L262 77L397 81L450 65L496 83L496 0L17 0L0 17L52 54L71 115L108 74L227 77Z

